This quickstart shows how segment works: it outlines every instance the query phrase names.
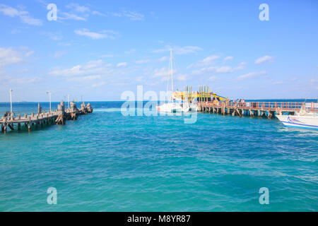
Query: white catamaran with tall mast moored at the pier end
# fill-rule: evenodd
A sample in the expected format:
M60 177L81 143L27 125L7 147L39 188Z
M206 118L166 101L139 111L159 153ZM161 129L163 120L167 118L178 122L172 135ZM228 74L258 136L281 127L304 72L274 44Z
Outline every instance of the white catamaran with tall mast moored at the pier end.
M157 106L158 112L197 112L198 107L189 100L181 100L176 97L175 93L173 93L173 65L172 65L172 49L170 49L170 73L168 73L167 78L167 95L171 93L171 97L167 99L167 101L163 105ZM171 79L171 80L170 80ZM171 81L171 90L169 90L169 84ZM170 99L170 100L169 100Z

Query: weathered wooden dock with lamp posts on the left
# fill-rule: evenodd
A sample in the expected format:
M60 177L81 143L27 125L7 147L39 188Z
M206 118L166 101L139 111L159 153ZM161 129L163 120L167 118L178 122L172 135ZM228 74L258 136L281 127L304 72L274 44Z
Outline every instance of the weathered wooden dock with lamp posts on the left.
M75 102L70 102L70 108L66 109L64 102L62 101L60 105L57 105L57 109L52 112L45 112L45 110L42 111L42 107L40 107L39 104L36 114L34 112L30 115L24 114L24 116L18 114L17 117L15 117L12 113L6 114L0 119L1 132L7 133L8 128L11 129L11 131L16 129L20 131L21 126L25 126L25 128L27 128L30 132L33 127L37 129L39 127L43 128L45 125L64 125L66 120L76 120L79 115L89 114L92 112L93 108L90 106L90 103L85 105L84 102L81 104L80 109L76 107Z

